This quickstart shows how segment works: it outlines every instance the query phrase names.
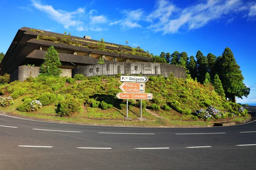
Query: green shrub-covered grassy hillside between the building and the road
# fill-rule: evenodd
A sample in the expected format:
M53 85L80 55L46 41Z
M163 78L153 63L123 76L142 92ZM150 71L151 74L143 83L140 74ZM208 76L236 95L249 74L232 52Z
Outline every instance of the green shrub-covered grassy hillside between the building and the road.
M126 100L116 98L122 92L119 76L75 78L80 80L39 76L2 85L0 94L11 96L14 104L0 109L44 119L141 125L207 125L204 120L248 117L246 110L218 96L211 85L170 75L148 77L145 92L153 94L153 100L143 100L143 117L148 120L124 122ZM128 116L134 120L140 116L139 101L129 100Z

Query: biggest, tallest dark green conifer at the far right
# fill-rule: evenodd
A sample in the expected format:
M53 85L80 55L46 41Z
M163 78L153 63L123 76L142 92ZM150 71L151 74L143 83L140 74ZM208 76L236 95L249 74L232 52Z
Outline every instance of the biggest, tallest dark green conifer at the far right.
M236 63L230 48L225 48L222 57L217 58L215 67L225 95L232 102L236 102L236 96L242 99L242 96L247 97L250 94L250 88L244 85L244 77L241 74L240 66Z

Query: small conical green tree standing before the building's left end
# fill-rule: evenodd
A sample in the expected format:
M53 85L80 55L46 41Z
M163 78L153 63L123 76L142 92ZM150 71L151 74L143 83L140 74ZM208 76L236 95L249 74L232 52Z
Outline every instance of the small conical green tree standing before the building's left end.
M44 63L41 65L40 71L48 76L59 77L62 71L58 68L58 66L61 66L58 52L53 46L50 46L47 51L48 52L44 54Z

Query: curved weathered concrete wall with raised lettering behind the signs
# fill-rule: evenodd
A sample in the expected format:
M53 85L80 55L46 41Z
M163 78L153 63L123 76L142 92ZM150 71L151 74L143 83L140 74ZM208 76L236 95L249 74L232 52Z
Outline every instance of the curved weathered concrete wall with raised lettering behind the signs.
M153 62L114 62L99 65L86 65L79 68L72 69L72 77L75 74L83 74L86 77L90 76L114 76L116 74L128 74L143 76L157 76L162 74L164 77L168 77L170 73L173 73L177 78L186 79L186 70L180 66L153 63Z

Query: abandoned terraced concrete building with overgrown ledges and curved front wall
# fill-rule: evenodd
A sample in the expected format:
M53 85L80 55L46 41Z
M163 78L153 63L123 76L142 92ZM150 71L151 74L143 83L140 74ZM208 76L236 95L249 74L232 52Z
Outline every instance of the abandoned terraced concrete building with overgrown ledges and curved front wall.
M110 42L105 42L105 48L100 48L99 42L91 40L88 36L81 38L23 27L17 31L0 63L0 74L11 74L11 81L23 81L26 77L38 76L47 48L54 46L59 54L60 68L63 69L62 76L118 73L168 76L172 72L175 77L186 78L184 68L151 63L150 55L139 48ZM105 64L97 65L100 58L105 60ZM34 67L24 65L34 65Z

